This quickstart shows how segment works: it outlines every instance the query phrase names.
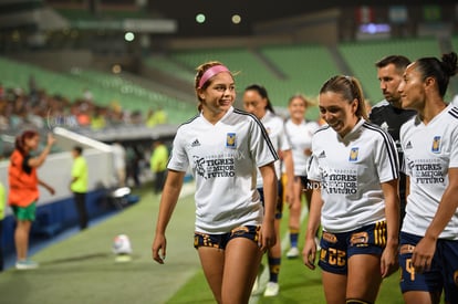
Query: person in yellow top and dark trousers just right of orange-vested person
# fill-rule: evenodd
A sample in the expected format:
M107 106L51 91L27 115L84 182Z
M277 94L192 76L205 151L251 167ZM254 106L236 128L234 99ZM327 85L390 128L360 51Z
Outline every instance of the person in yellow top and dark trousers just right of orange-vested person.
M75 208L79 217L80 229L87 228L89 216L86 207L86 192L87 192L87 163L83 157L83 148L76 146L72 150L73 166L72 166L72 180L70 181L70 189L73 192Z

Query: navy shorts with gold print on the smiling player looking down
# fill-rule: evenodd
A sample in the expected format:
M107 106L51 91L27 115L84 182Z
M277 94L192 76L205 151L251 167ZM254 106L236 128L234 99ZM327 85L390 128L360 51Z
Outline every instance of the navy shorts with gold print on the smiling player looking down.
M347 274L350 256L355 254L382 255L386 247L386 221L342 233L323 231L320 247L319 266L331 273Z

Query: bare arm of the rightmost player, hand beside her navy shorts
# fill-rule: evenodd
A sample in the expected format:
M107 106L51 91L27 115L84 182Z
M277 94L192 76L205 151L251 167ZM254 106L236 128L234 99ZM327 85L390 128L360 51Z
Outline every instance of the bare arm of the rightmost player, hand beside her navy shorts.
M429 270L436 242L458 208L458 168L448 169L448 186L440 199L436 214L433 218L425 237L415 247L412 263L416 271Z

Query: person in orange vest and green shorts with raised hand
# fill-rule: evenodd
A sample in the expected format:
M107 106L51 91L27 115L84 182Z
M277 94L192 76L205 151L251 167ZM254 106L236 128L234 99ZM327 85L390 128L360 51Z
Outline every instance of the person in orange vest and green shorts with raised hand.
M51 195L54 195L54 189L38 177L37 168L44 164L54 143L54 137L49 134L44 149L39 156L32 157L31 153L39 147L40 135L35 130L25 130L17 137L15 149L10 157L8 202L17 220L14 243L15 268L19 270L38 268L38 263L28 259L29 233L35 220L37 202L40 196L38 186L44 187Z

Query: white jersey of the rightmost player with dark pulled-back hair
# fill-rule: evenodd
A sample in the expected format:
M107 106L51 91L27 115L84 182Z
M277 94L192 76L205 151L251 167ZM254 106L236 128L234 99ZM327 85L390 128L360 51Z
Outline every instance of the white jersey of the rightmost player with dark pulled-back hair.
M400 144L410 179L402 231L423 237L448 186L448 169L458 167L458 107L448 105L427 125L417 117L407 122ZM458 210L439 238L458 240Z

